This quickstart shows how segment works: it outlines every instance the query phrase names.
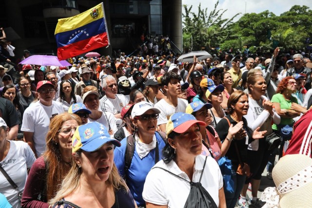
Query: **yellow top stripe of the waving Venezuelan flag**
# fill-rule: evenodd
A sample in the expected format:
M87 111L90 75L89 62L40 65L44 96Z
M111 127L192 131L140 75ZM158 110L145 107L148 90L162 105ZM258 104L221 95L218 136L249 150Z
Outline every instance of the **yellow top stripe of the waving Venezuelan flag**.
M55 28L54 35L70 30L74 30L78 27L96 21L100 18L104 18L104 12L102 10L102 4L100 3L97 6L80 13L74 17L59 19L59 22Z

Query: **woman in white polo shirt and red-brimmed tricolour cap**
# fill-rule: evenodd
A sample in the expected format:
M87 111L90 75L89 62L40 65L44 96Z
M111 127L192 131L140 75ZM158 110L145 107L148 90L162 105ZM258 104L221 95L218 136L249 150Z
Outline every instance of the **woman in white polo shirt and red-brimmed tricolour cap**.
M219 166L212 157L201 155L200 126L205 127L206 123L189 113L174 113L169 118L168 143L162 160L148 173L144 184L143 199L147 208L190 207L194 200L202 207L226 207Z

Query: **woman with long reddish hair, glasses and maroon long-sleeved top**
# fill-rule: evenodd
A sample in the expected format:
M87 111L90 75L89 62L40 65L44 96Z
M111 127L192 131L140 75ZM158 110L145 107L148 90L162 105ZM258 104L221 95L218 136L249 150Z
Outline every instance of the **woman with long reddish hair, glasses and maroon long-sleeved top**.
M59 185L70 170L72 142L81 120L76 114L62 113L52 118L46 136L46 151L32 166L21 205L24 208L48 208L48 201L59 190Z

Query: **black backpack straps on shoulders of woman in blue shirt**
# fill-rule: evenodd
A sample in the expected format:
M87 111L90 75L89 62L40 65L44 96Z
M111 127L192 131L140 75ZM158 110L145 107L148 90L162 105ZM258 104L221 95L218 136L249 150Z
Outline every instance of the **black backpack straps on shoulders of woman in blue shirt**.
M158 132L158 131L156 131L156 132L160 135L160 137L165 142L165 144L167 144L166 133L165 132ZM133 154L135 152L135 147L136 147L135 143L136 143L136 140L134 139L133 134L127 136L127 144L126 144L126 152L125 152L125 167L124 167L125 178L127 178L128 171L129 171L129 168L131 166ZM159 155L157 153L158 152L157 147L158 147L158 145L156 146L155 164L156 164L156 162L159 161L159 158L158 158Z

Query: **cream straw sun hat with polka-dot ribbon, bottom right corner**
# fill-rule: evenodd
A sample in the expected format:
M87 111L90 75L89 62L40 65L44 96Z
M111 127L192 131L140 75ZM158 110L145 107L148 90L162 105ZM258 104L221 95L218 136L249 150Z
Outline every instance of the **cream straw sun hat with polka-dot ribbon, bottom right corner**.
M261 200L265 208L311 208L312 159L307 155L282 157L272 171L276 187L266 188Z

